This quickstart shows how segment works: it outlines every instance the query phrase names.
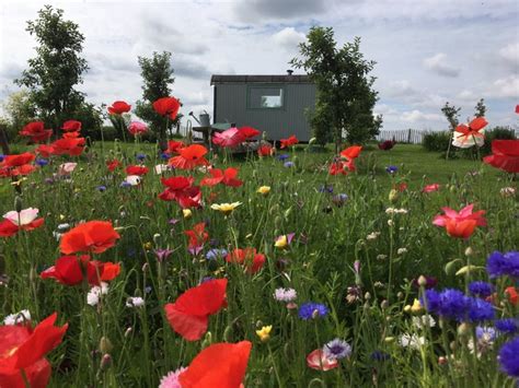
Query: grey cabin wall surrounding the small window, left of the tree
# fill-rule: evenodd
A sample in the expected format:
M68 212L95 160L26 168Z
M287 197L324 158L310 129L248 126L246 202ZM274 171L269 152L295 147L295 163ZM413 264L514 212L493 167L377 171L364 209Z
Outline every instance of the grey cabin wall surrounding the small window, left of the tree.
M266 131L268 139L279 140L291 134L309 141L310 126L304 110L315 105L315 85L311 83L265 83L265 86L284 86L284 107L279 109L251 109L247 107L249 87L255 83L215 84L215 122L235 122Z

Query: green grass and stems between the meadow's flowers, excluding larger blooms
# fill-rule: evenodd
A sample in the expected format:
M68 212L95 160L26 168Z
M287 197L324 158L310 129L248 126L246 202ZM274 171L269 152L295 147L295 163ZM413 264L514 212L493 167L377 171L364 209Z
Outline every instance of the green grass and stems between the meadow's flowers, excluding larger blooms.
M413 279L435 277L439 290L464 290L468 281L488 280L484 266L492 251L517 249L517 197L500 193L501 188L516 186L509 176L480 162L445 161L419 145L404 144L389 152L362 152L358 172L347 176L330 176L331 153L307 148L288 152L292 167L284 167L277 158L226 161L224 155L211 155L218 168L239 167L244 184L204 188L204 208L184 217L177 203L158 199L163 187L152 172L137 187L120 187L124 172L106 169L107 158L135 164L137 153L148 155L145 163L152 169L161 163L153 150L150 144L96 144L77 158L79 165L69 179L48 180L67 161L59 157L22 181L21 192L9 179L0 183L2 214L21 201L23 209L38 208L45 217L44 226L1 240L9 282L0 294L3 315L28 308L41 321L58 311L59 322L69 322L64 343L49 354L50 386L153 387L168 372L188 366L208 345L242 340L253 343L246 387L514 386L496 360L506 337L476 356L469 346L472 334L459 334L459 322L446 320L440 328L435 316L436 327L418 328L413 315L405 313L405 306L424 291L412 285ZM397 166L397 172L388 174L389 165ZM205 176L198 171L174 174L192 175L196 183ZM407 190L391 193L402 181L408 184ZM434 183L441 184L439 192L420 192ZM260 186L272 190L262 196L256 192ZM323 186L333 187L333 192L322 192ZM341 193L347 199L337 197ZM211 201L242 204L224 216L210 209ZM478 227L469 240L452 238L431 224L442 207L459 210L468 203L486 210L488 221L488 227ZM406 213L391 214L388 208ZM177 222L172 224L172 219ZM90 220L111 220L122 235L115 247L94 255L123 267L97 306L86 304L88 289L38 277L60 256L59 225L72 227ZM184 231L200 222L210 244L192 255ZM276 237L289 233L295 233L293 242L276 248ZM470 257L464 255L469 246ZM205 258L209 248L244 247L265 255L257 273L221 258ZM173 254L160 263L154 249L163 248ZM466 264L476 267L457 275ZM228 306L209 317L208 331L199 341L189 342L172 330L163 307L205 277L229 280ZM517 315L518 306L504 295L504 289L514 284L511 279L494 283L501 303L496 316ZM299 306L322 303L328 315L300 319L297 309L274 299L281 286L297 291ZM143 297L145 306L127 307L130 296ZM422 309L416 316L423 314ZM267 325L273 326L270 339L262 342L256 330ZM425 344L402 346L402 336L413 334L423 337ZM334 338L348 341L350 357L328 372L308 367L307 355ZM109 364L103 363L106 354ZM447 364L438 363L438 357L449 355Z

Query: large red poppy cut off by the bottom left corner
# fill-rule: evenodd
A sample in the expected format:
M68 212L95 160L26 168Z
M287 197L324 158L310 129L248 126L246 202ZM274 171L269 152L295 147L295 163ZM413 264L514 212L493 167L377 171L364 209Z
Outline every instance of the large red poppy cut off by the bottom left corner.
M0 387L44 388L50 378L50 364L45 355L61 343L68 325L54 326L57 313L34 329L31 325L0 326Z

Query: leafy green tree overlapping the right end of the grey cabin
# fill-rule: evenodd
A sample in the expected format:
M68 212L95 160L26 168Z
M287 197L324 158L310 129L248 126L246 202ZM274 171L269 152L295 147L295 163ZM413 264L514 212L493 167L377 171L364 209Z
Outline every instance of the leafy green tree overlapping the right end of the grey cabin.
M315 83L316 103L310 124L318 142L335 140L338 152L343 132L350 143L362 143L379 133L381 116L373 116L378 93L372 89L374 78L368 74L376 62L360 52L360 38L337 49L332 27L312 27L307 42L299 45L302 57L290 64L304 69Z

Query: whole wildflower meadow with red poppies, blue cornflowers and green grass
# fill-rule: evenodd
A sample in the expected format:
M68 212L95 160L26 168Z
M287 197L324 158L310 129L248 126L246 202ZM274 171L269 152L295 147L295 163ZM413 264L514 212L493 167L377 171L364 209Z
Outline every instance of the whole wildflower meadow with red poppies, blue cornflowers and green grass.
M412 145L125 128L35 121L0 156L2 388L516 385L518 141L417 176Z

